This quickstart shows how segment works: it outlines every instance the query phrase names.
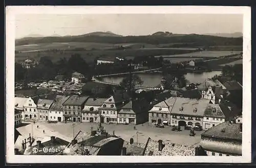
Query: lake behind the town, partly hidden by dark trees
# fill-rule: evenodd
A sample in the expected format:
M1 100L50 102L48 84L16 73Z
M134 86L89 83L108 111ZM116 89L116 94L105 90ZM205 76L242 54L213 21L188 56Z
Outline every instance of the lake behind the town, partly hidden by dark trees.
M206 78L211 78L214 75L220 75L221 71L211 71L211 72L202 72L202 73L187 73L185 74L185 78L190 83L202 83ZM152 74L152 73L141 73L137 74L144 82L142 84L143 87L156 87L160 84L160 80L162 78L161 74ZM126 75L127 76L127 75ZM111 83L120 83L124 76L109 76L102 77L102 81L111 82Z

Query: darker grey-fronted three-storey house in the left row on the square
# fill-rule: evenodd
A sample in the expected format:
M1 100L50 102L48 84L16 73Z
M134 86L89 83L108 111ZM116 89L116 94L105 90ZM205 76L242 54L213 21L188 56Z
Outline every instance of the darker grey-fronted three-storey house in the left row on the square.
M63 117L65 121L82 122L82 109L89 96L70 96L62 103Z

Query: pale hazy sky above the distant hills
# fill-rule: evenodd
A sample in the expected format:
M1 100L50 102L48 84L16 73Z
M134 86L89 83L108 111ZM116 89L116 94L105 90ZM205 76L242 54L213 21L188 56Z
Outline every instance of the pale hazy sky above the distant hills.
M15 38L31 34L82 35L113 32L123 36L243 32L242 14L22 14L15 18Z

